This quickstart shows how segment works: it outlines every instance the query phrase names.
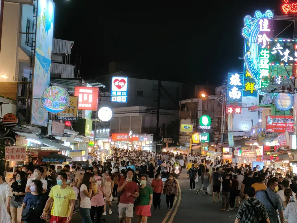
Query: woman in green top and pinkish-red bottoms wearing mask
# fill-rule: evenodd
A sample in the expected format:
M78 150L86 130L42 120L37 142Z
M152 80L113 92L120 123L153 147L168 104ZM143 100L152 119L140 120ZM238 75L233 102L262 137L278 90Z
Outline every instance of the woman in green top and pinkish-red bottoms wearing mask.
M153 203L153 190L146 186L146 176L140 177L139 196L135 202L135 214L138 215L137 223L146 223L148 216L151 216Z

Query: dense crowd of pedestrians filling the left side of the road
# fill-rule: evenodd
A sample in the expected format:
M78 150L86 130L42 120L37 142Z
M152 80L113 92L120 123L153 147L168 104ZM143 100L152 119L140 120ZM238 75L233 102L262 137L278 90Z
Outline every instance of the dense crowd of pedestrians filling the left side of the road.
M185 154L117 148L88 167L75 162L38 165L34 158L9 182L0 174L0 223L65 223L74 212L80 213L83 223L99 223L113 213L115 203L119 222L130 223L136 215L137 222L146 223L152 204L152 210L162 209L162 193L165 210L172 210L178 195L173 168L186 168L187 163Z

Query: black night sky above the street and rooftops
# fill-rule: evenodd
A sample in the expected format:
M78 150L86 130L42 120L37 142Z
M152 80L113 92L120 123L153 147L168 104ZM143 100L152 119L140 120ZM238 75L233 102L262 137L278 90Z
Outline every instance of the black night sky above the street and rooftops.
M227 72L243 71L243 17L267 9L280 15L281 1L55 3L54 38L75 42L72 63L82 56L82 78L105 75L119 61L130 77L219 85Z

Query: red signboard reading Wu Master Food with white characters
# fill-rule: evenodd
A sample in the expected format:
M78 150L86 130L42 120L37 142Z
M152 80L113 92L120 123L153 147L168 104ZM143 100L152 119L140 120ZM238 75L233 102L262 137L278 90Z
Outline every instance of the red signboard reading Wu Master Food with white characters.
M266 116L266 132L294 132L293 116Z

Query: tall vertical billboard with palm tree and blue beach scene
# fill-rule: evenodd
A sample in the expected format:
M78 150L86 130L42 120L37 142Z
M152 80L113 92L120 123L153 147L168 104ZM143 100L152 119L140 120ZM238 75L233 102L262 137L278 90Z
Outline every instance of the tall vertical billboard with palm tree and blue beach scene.
M47 126L48 112L41 103L43 91L49 87L52 56L55 4L51 0L39 0L32 82L31 123Z

